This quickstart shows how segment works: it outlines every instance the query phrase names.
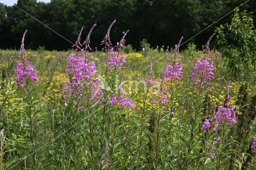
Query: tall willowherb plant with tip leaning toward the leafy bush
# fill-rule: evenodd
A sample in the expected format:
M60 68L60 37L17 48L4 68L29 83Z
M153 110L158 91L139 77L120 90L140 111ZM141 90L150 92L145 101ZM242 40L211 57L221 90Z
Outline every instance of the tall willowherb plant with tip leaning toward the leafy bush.
M214 70L214 65L212 62L212 56L207 55L210 53L210 40L213 38L215 35L212 34L212 36L209 38L207 41L206 45L203 47L202 53L204 53L204 56L202 56L202 59L196 59L196 63L194 65L194 69L192 70L192 75L190 76L190 81L194 84L194 87L188 85L191 87L196 93L191 99L193 100L192 106L191 107L191 112L187 119L189 119L189 124L188 124L188 129L190 130L190 137L189 137L189 142L188 142L188 149L186 150L186 161L185 164L183 165L185 169L188 169L188 166L195 160L199 158L204 158L208 154L210 154L211 158L215 156L214 153L208 153L206 154L205 152L201 153L200 155L195 154L194 148L200 147L200 145L195 146L195 142L198 141L198 135L196 134L199 128L200 124L200 117L202 116L202 111L204 110L204 96L209 95L212 93L212 88L210 86L213 83L210 83L212 79L214 79L213 75L214 73L212 72ZM208 57L208 58L207 58ZM194 97L196 96L196 99ZM190 109L190 108L188 108ZM205 120L203 128L209 127L209 122L208 119ZM192 157L192 160L190 160ZM198 166L198 164L196 165Z

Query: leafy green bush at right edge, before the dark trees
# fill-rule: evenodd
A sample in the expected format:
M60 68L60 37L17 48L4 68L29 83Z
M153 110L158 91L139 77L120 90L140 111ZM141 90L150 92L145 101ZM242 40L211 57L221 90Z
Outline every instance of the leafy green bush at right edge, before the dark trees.
M218 44L224 66L233 73L240 74L242 69L255 69L256 64L256 30L253 25L252 12L235 10L230 24L216 28Z

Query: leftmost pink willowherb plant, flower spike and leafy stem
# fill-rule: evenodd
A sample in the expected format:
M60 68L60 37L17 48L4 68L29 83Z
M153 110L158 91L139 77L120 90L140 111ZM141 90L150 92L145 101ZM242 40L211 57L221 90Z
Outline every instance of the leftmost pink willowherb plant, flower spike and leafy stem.
M43 102L40 101L39 90L37 89L38 84L34 84L33 82L38 82L38 77L36 70L34 69L34 65L31 63L31 59L28 57L26 53L26 49L24 48L24 39L25 35L28 32L26 30L22 36L22 41L20 45L20 53L17 55L19 61L17 61L17 67L14 69L16 71L16 83L22 87L20 91L26 91L26 94L21 93L20 96L25 103L24 108L21 109L20 121L23 124L21 127L21 132L16 134L23 136L26 140L28 140L26 145L23 145L23 150L26 150L24 154L32 153L33 158L29 158L26 161L28 163L32 162L37 164L38 154L34 152L39 147L39 135L38 135L38 127L42 124L42 119L40 119L40 115L43 115ZM26 132L24 134L24 132ZM12 136L16 136L12 134ZM20 140L24 140L20 138ZM23 142L23 141L22 141ZM26 166L26 165L25 165Z

